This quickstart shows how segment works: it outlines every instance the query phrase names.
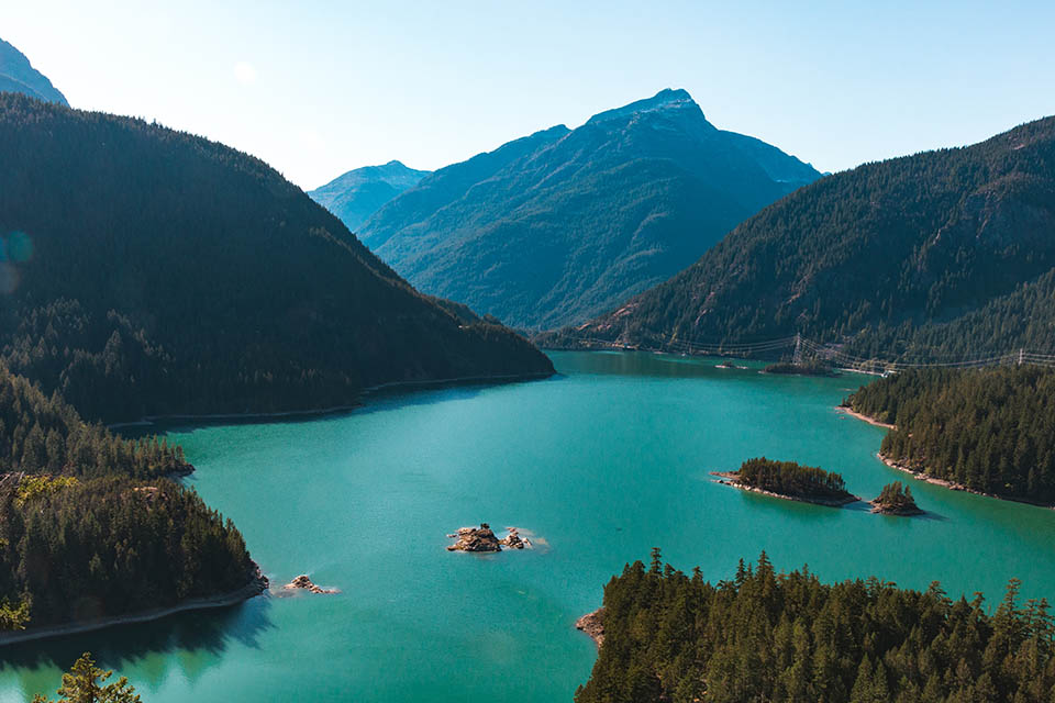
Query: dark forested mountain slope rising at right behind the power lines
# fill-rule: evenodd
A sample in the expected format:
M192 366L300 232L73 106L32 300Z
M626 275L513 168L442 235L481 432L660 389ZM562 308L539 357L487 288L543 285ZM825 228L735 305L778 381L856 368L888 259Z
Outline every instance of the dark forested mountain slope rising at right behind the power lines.
M548 344L781 337L858 355L1053 348L1055 118L867 164L736 227L670 280Z

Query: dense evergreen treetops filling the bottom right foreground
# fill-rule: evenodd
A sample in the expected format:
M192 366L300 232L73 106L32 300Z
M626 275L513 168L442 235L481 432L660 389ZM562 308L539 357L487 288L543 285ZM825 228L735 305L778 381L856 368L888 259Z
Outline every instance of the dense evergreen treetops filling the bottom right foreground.
M604 644L576 703L1048 703L1046 601L993 615L875 578L821 583L741 561L717 585L640 561L604 588Z

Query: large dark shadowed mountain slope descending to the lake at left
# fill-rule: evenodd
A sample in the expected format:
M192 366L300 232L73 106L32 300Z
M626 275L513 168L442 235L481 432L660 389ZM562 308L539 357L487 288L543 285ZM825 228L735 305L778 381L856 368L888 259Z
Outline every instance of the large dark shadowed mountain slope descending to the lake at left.
M270 412L546 373L420 295L264 163L0 94L0 357L89 419Z

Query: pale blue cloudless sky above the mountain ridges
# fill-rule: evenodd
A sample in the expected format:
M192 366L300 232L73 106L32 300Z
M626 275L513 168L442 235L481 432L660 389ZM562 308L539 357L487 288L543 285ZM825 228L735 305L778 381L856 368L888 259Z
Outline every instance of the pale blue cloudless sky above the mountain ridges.
M75 107L203 134L304 188L437 168L665 87L821 170L973 143L1055 113L1053 27L1050 0L0 7L0 37Z

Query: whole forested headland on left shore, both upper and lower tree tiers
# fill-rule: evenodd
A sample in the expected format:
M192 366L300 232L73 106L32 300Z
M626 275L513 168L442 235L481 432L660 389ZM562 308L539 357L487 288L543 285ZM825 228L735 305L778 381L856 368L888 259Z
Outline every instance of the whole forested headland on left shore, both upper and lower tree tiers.
M86 424L0 365L0 645L235 603L242 535L168 477L179 447Z

